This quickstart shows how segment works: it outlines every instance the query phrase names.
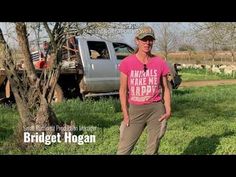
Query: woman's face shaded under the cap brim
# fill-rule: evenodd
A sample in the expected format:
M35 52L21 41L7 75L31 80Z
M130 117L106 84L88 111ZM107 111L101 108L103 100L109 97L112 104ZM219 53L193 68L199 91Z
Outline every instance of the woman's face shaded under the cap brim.
M146 36L143 39L136 39L139 50L148 53L152 50L154 39L151 36Z

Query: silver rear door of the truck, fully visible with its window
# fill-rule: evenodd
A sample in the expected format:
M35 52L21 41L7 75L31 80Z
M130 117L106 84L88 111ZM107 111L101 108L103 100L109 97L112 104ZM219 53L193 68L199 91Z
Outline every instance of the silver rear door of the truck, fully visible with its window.
M86 84L91 92L112 92L115 90L116 68L107 44L104 41L87 41L89 50Z

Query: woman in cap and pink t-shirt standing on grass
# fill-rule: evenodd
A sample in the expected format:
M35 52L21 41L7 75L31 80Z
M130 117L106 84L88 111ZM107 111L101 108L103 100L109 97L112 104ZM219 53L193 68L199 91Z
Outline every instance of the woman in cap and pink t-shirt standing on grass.
M171 116L171 96L167 84L170 72L167 63L152 55L154 31L145 26L138 29L137 51L120 63L120 101L123 121L117 154L130 154L145 127L145 154L157 154L166 121Z

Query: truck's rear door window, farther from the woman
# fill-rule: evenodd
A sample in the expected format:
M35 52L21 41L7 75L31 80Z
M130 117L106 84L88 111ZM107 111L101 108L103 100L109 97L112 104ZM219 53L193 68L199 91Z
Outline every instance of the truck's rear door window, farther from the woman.
M90 52L90 59L97 60L97 59L110 59L110 54L105 42L101 41L87 41L88 49Z

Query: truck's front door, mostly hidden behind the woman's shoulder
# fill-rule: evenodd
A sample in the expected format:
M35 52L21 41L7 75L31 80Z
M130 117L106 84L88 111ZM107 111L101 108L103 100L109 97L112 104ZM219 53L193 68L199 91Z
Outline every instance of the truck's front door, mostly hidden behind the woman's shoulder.
M115 62L116 62L116 77L120 78L120 72L118 70L120 62L127 56L131 55L134 53L134 49L130 47L129 45L125 43L118 43L118 42L113 42L113 48L115 52ZM119 89L120 86L120 80L117 79L115 81L115 87L116 89Z

